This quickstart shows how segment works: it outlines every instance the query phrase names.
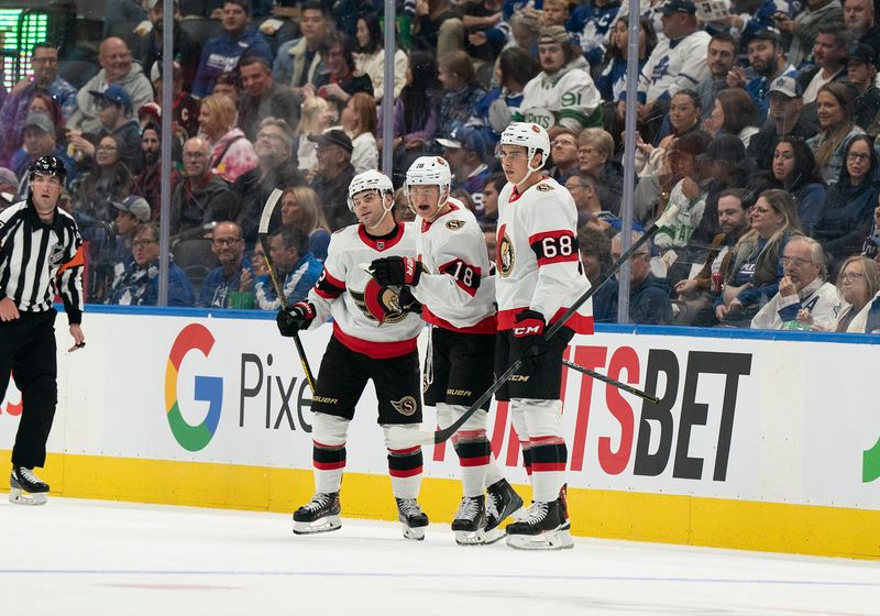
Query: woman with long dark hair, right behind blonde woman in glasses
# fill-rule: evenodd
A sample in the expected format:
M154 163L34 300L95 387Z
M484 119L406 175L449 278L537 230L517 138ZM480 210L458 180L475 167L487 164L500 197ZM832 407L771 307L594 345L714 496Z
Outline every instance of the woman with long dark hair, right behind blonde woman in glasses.
M773 178L794 197L801 228L807 235L825 206L825 180L803 139L781 136L773 152Z

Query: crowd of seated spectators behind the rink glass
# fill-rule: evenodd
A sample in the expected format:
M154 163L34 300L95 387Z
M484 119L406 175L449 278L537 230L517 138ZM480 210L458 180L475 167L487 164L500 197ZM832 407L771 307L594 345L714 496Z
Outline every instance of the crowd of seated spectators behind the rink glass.
M51 43L0 95L0 208L28 195L30 162L59 156L92 264L92 302L157 296L163 183L170 183L169 304L275 309L257 224L284 191L268 250L296 301L329 234L355 222L354 174L392 150L443 156L494 257L494 152L510 121L551 136L544 173L579 210L585 272L622 252L629 3L399 0L394 82L383 2L174 2L173 109L162 101L163 1L119 0L143 20L97 42L99 70L72 85ZM711 4L711 6L710 6ZM274 12L273 12L274 11ZM207 30L187 22L211 22ZM635 238L679 208L631 261L637 323L873 331L880 310L880 24L872 0L642 0ZM196 34L194 34L194 32ZM393 108L383 142L382 106ZM170 113L173 174L161 175ZM395 216L411 220L406 193ZM613 283L594 298L617 320ZM877 323L875 323L877 324Z

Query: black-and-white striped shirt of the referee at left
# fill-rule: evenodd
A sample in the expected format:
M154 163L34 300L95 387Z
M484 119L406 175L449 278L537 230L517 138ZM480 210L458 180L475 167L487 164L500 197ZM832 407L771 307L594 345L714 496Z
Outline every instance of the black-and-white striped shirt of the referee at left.
M30 199L0 211L0 299L44 312L57 290L70 323L79 323L82 265L82 239L67 212L56 209L53 221L43 222Z

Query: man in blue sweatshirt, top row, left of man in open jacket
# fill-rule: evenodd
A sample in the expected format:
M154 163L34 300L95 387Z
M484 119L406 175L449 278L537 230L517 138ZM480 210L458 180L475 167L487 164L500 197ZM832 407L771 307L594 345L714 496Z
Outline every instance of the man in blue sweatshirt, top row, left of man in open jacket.
M232 73L239 59L250 52L272 62L272 50L263 35L251 25L251 1L227 0L223 2L223 33L205 44L201 61L193 84L193 96L207 97L213 89L217 77Z

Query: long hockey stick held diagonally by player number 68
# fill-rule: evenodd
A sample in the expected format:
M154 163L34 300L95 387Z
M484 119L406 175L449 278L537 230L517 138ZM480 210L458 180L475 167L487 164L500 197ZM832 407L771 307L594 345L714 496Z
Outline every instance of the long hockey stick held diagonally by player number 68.
M586 293L584 293L581 297L579 297L574 301L574 304L572 304L571 307L568 310L565 310L565 312L562 314L562 316L559 318L558 321L556 321L552 326L548 328L547 332L544 332L544 338L549 340L553 336L556 336L557 332L560 329L562 329L562 327L565 324L565 321L568 321L581 306L583 306L591 297L593 297L593 295L595 295L595 293L602 287L602 285L610 280L612 277L617 273L617 271L624 266L624 263L632 258L632 255L636 254L636 252L641 246L648 243L651 240L651 238L657 235L660 229L662 229L663 227L669 227L671 221L678 216L678 213L679 213L679 207L675 205L671 206L667 211L664 211L663 215L657 220L657 222L651 224L651 227L648 228L645 234L641 238L639 238L631 246L629 246L629 249L624 254L620 255L620 258L618 258L608 268L608 271L605 272L605 274L603 274L598 280L596 280L596 284L591 286L586 290ZM504 385L507 382L507 380L510 378L510 376L513 376L517 370L519 370L519 366L521 364L522 360L519 359L517 359L513 364L510 364L510 366L506 371L504 371L504 373L495 381L495 383L493 383L490 386L490 388L486 389L483 393L483 395L476 399L474 404L468 407L468 409L461 415L461 417L459 417L448 427L441 428L433 432L429 432L427 430L415 431L399 426L394 426L388 429L388 438L399 439L399 441L411 442L413 444L440 444L441 442L447 441L450 437L452 437L452 435L459 431L459 428L464 426L464 422L468 421L468 419L470 419L471 416L474 413L476 413L477 409L480 409L480 407L482 407L493 396L493 394L495 394L495 392L501 389L502 385ZM604 381L605 383L614 385L615 387L619 387L624 391L627 391L627 388L629 387L629 385L620 383L619 381L615 381L614 378L610 378L608 376L603 376L601 381Z

